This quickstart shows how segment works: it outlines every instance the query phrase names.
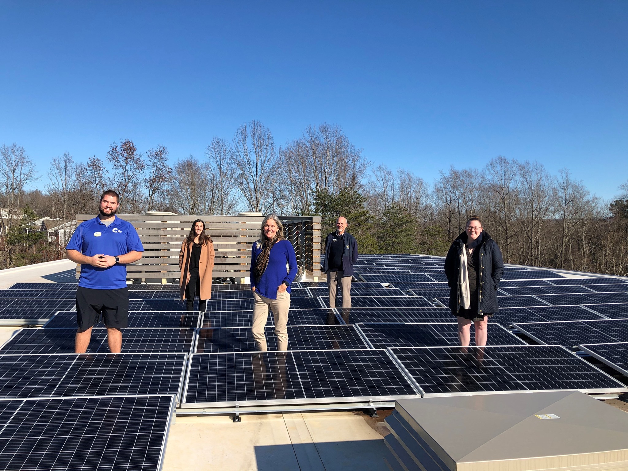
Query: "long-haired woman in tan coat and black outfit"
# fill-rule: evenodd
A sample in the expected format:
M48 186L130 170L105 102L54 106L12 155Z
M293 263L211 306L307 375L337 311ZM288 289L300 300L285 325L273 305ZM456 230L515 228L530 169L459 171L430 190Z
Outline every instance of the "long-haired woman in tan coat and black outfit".
M205 222L197 219L190 234L181 244L179 268L181 269L181 299L187 300L187 310L194 310L194 298L200 298L200 310L205 311L207 300L212 297L212 270L214 269L214 242L205 234Z

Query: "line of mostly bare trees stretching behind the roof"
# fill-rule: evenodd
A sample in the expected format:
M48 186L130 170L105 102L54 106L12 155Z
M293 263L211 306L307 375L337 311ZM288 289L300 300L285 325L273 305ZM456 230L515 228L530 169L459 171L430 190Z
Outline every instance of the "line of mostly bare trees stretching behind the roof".
M372 165L331 124L278 145L268 127L250 121L232 138L212 138L202 157L173 162L161 144L140 150L122 139L102 157L55 156L45 176L23 147L0 148L0 205L19 216L3 230L5 252L11 225L19 221L13 233L21 234L35 216L94 212L99 195L115 188L121 213L319 215L323 236L344 215L362 252L443 256L479 215L507 263L628 275L628 182L605 202L567 169L552 175L536 161L503 156L483 168L452 166L428 182L412 169ZM27 191L37 178L47 183ZM31 239L24 243L35 246Z

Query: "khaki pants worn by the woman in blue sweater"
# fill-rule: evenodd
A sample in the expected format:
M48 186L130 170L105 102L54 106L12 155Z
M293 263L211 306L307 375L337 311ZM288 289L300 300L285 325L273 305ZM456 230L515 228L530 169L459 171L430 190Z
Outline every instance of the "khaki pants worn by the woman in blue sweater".
M277 291L277 299L271 300L253 291L253 327L252 333L255 346L260 352L266 352L266 335L264 327L268 320L268 308L273 310L277 349L288 350L288 310L290 310L290 293Z

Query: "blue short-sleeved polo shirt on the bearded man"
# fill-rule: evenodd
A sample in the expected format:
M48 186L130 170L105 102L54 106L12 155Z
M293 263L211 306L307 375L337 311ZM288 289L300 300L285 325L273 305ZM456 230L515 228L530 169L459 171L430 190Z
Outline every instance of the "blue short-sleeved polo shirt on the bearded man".
M99 217L80 223L65 249L81 252L88 257L95 254L117 257L131 251L144 251L133 224L117 216L109 226L102 224ZM109 268L81 264L78 286L95 290L126 288L126 264Z

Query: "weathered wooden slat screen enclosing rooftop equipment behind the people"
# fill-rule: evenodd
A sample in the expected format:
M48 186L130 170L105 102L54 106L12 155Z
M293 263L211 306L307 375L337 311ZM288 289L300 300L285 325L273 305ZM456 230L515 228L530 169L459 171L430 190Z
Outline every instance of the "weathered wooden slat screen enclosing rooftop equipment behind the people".
M214 241L216 257L214 260L214 277L244 278L249 276L251 264L251 244L259 238L259 228L262 216L190 216L190 215L153 215L153 214L121 214L118 215L135 227L144 246L143 257L136 263L127 266L127 279L161 279L173 281L179 278L179 251L181 242L190 232L192 223L196 219L205 221L205 230ZM77 214L77 222L92 219L95 214ZM298 242L305 246L301 249L306 254L304 257L306 269L313 271L309 263L314 259L313 248L320 246L320 218L286 217L290 220L290 227L295 227L303 232L302 240ZM318 222L314 222L318 219ZM283 219L282 219L283 220ZM309 221L309 226L307 225ZM314 236L318 224L318 234ZM291 229L293 230L293 229ZM311 233L311 234L310 234ZM308 234L310 234L308 236ZM318 237L318 239L317 239ZM313 241L314 246L311 246ZM295 241L290 239L293 244ZM310 246L308 246L310 244ZM295 246L296 247L296 246ZM320 249L317 252L318 268L320 274ZM80 273L80 265L77 266L77 276ZM315 273L315 271L314 271ZM315 275L317 276L317 275Z

